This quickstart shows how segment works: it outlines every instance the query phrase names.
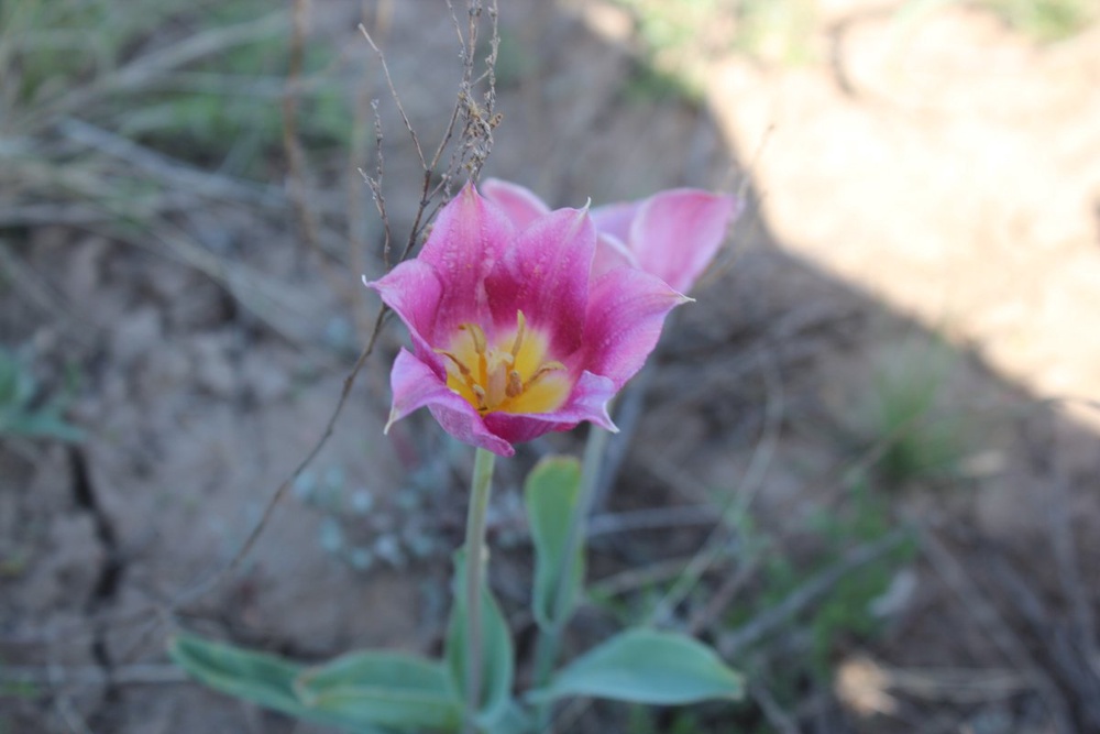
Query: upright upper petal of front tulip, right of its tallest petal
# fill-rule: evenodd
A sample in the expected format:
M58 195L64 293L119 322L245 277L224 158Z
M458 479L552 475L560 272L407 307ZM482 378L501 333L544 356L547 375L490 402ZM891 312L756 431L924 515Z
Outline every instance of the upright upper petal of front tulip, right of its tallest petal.
M585 210L558 209L531 223L485 280L497 326L513 327L521 310L528 325L547 332L551 354L574 351L595 247L596 231Z

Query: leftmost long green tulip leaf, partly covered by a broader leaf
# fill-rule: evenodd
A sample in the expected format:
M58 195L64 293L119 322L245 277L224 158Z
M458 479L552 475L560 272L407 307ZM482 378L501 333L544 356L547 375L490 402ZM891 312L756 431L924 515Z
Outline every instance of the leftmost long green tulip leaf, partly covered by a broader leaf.
M275 655L211 643L195 635L179 635L169 640L168 655L196 680L216 691L356 734L389 734L389 730L370 722L307 706L294 690L304 667Z

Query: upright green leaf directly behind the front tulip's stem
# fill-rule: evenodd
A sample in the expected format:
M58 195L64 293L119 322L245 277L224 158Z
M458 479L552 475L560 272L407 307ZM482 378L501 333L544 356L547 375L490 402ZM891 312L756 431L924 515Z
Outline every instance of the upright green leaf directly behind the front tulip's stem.
M466 695L466 660L470 640L466 638L465 551L454 554L454 607L447 629L447 667L454 694ZM514 672L512 634L488 584L481 590L481 701L476 719L483 726L492 724L507 712Z

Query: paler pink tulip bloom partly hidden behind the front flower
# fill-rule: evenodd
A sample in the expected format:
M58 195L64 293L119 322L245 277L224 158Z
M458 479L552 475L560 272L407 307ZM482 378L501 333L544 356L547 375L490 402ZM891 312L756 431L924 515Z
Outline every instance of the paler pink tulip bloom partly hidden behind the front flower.
M482 184L482 193L501 205L517 227L550 211L518 184L490 178ZM592 210L598 235L593 274L630 265L688 293L714 260L738 212L735 197L695 188L596 207Z

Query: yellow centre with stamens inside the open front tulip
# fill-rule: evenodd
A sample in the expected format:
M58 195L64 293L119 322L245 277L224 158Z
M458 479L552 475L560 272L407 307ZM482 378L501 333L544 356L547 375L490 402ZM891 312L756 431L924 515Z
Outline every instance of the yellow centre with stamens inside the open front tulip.
M547 338L527 329L516 311L516 330L499 335L493 344L476 324L463 324L449 349L447 386L482 415L487 413L549 413L569 396L565 365L547 360Z

